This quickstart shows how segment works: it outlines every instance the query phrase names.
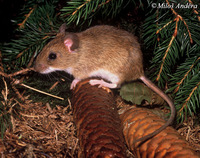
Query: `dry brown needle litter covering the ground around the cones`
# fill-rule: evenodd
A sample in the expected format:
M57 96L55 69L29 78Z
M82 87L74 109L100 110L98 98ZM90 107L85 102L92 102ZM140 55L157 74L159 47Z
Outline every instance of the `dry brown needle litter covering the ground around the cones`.
M121 99L117 100L119 107L126 106ZM79 140L70 101L65 107L57 105L51 108L49 103L32 103L27 99L20 106L24 111L19 113L19 117L11 116L13 126L6 130L4 139L0 139L2 158L78 157ZM200 152L200 125L188 118L177 131L194 150Z

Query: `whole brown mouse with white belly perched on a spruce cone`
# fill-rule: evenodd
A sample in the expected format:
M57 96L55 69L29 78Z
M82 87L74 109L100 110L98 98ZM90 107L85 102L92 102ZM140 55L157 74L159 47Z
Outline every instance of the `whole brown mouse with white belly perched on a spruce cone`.
M108 88L120 87L124 82L142 80L169 104L171 116L164 126L135 142L146 141L173 122L174 104L145 77L142 52L136 37L127 31L107 25L94 26L80 33L65 32L65 27L60 27L55 39L38 55L34 65L36 71L43 74L56 70L66 71L75 78L71 88L80 80L89 77L106 79L110 83L92 79L90 84Z

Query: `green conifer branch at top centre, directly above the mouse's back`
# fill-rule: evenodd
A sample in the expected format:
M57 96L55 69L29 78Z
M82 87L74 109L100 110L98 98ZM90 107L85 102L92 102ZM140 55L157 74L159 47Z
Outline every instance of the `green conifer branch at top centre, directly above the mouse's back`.
M113 3L110 3L113 2ZM129 3L129 1L125 2ZM102 9L102 14L109 16L112 14L112 17L115 16L123 8L123 0L76 0L67 2L67 6L61 9L62 16L66 17L68 24L76 22L76 25L83 24L84 22L92 21L94 15Z

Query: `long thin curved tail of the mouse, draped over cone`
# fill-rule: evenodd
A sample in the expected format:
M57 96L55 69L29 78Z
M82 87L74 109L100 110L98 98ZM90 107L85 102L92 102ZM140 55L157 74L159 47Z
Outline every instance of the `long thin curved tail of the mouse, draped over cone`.
M142 138L139 138L137 140L134 141L134 144L138 141L140 141L140 144L143 143L144 141L147 141L148 139L154 137L155 135L157 135L158 133L160 133L162 130L164 130L167 126L169 126L175 116L176 116L176 109L175 109L175 106L172 102L172 100L161 90L159 89L152 81L150 81L147 77L145 76L142 76L140 77L140 79L150 88L152 89L154 92L156 92L159 96L161 96L170 106L170 109L171 109L171 115L170 115L170 118L168 119L168 121L163 125L161 126L159 129L157 129L156 131L142 137Z

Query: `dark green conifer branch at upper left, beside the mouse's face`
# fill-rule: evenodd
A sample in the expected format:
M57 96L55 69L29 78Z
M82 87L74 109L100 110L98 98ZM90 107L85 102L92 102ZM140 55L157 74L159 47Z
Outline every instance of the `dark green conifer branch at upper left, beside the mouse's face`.
M42 5L34 4L35 2L33 1L30 3L26 7L32 9L29 9L25 19L23 16L23 22L18 24L20 25L18 29L20 38L11 40L10 43L6 43L3 46L2 55L4 62L15 60L16 65L25 67L33 55L37 55L47 41L56 35L54 30L59 26L59 23L56 22L59 19L54 12L55 1ZM25 10L27 10L26 7ZM12 66L14 67L15 65ZM20 69L19 67L17 68Z

